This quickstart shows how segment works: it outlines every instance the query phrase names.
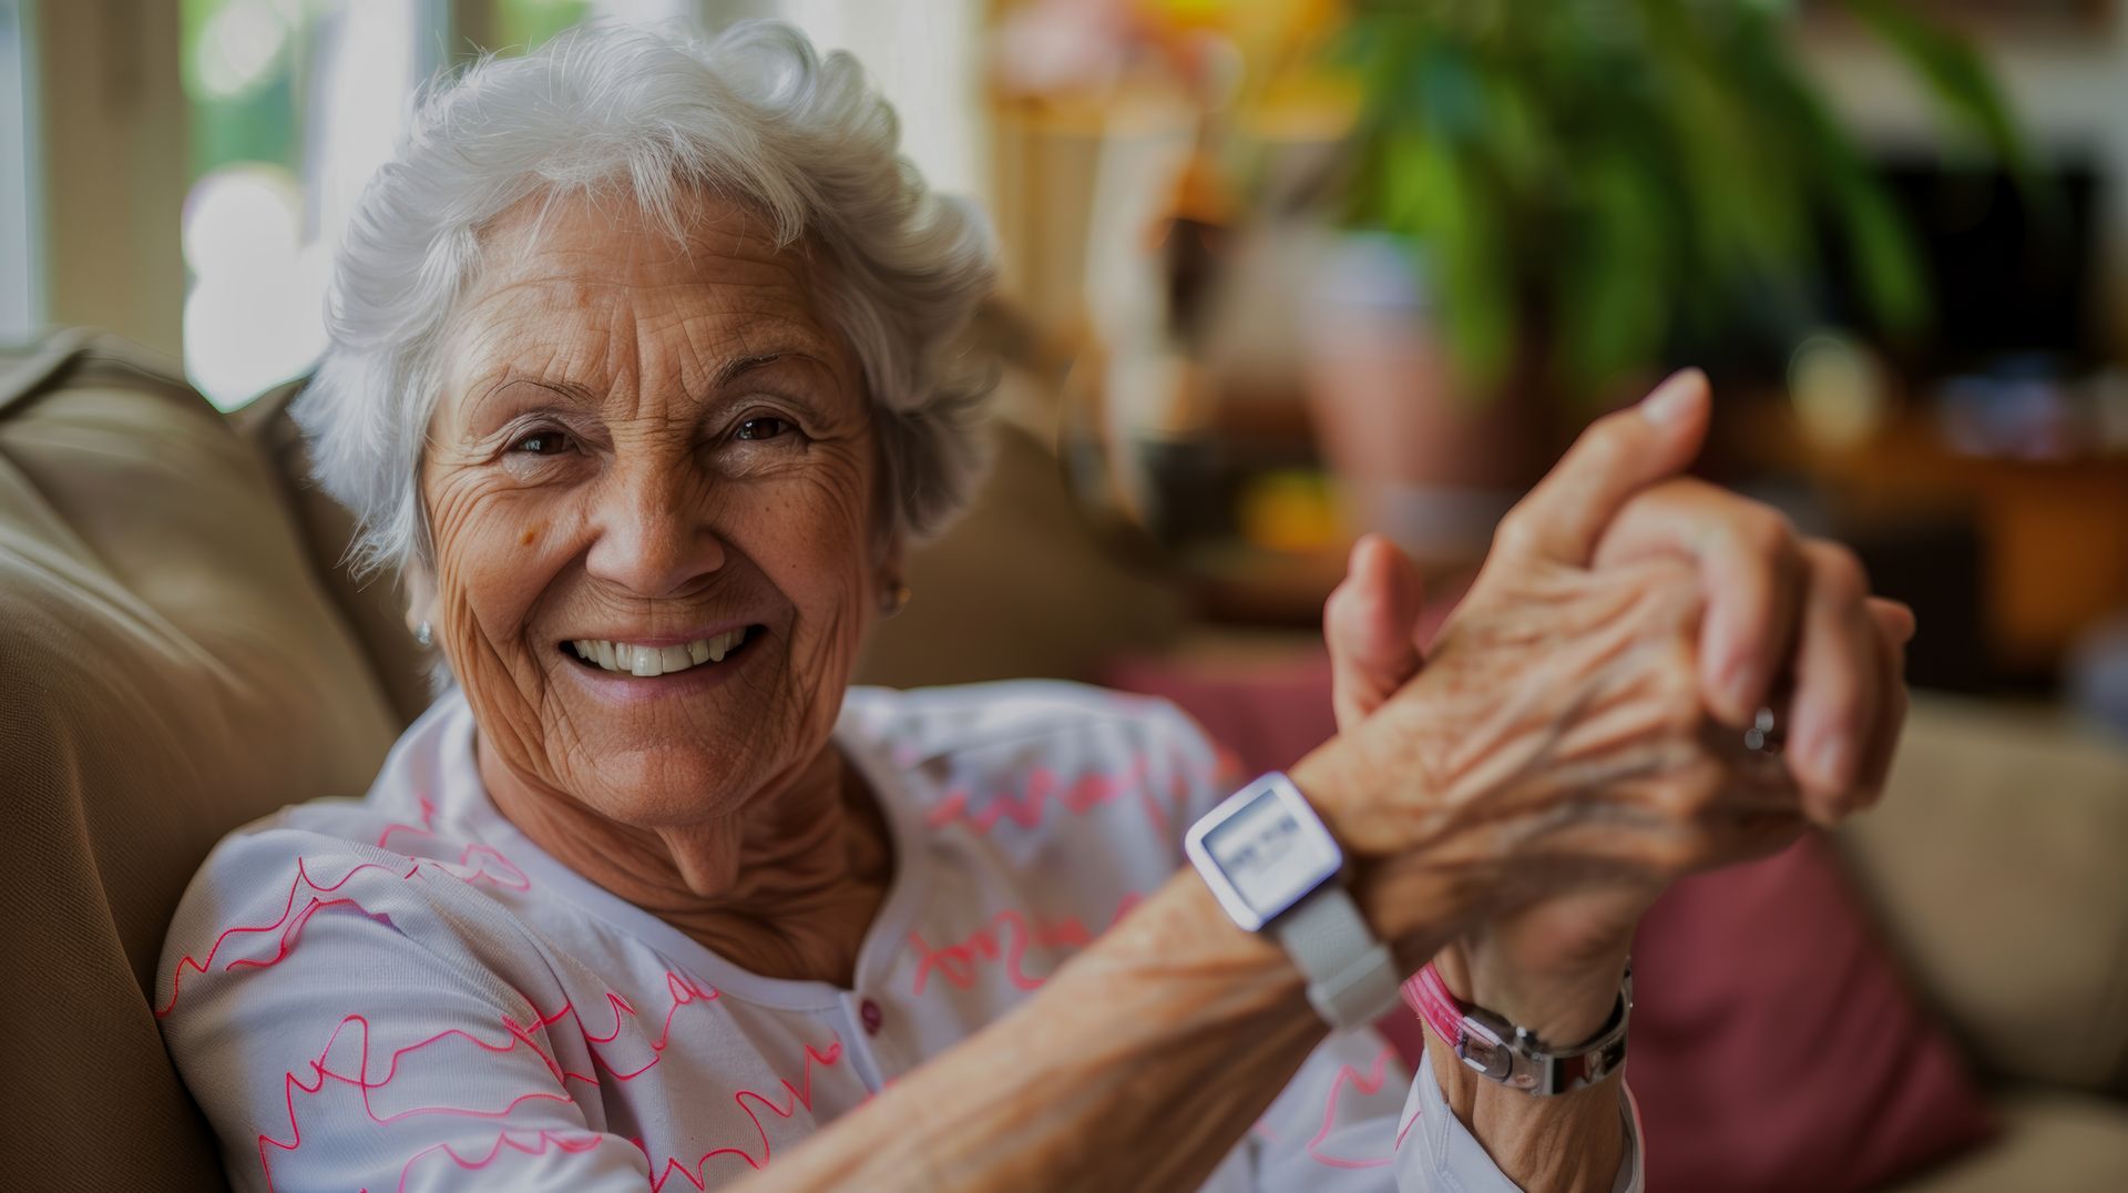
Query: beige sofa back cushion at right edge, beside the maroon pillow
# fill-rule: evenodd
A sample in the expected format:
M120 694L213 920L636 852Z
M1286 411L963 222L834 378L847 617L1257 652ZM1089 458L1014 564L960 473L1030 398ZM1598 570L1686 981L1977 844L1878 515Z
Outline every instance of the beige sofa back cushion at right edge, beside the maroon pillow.
M2128 743L1928 697L1890 786L1841 837L1981 1069L2128 1093Z

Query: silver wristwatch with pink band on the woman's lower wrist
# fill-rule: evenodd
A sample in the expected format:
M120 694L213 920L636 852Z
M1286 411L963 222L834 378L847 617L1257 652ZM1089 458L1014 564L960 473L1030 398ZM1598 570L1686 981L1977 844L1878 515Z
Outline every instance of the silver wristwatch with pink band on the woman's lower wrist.
M1605 1080L1626 1065L1626 1023L1632 1018L1632 965L1619 980L1617 1006L1596 1035L1575 1048L1551 1048L1528 1027L1475 1006L1464 1006L1428 965L1404 982L1419 1018L1479 1076L1536 1095L1570 1093Z

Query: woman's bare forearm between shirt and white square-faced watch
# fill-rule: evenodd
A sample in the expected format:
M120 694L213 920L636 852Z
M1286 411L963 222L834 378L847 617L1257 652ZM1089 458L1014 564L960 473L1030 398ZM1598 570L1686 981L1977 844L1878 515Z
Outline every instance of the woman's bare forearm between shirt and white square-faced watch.
M815 1133L777 1187L1192 1189L1324 1037L1277 944L1179 873L1041 993Z

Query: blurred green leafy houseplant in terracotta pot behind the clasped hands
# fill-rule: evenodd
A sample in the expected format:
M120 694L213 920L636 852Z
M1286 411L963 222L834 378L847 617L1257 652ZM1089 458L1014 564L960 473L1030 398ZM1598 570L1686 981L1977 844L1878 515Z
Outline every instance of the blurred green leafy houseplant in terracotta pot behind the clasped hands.
M2030 177L1958 36L1894 0L1815 6L1875 32L1962 136ZM1926 322L1911 230L1805 72L1796 15L1351 0L1330 55L1360 100L1307 375L1353 522L1430 565L1477 560L1564 439L1673 345L1739 313L1805 326L1828 254L1877 330Z

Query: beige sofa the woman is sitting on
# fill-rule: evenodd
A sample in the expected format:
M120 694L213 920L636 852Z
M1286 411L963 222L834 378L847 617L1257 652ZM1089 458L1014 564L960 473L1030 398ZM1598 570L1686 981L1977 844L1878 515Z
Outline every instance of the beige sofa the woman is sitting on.
M0 356L9 1187L221 1184L149 1006L164 920L221 833L364 790L426 703L389 586L336 567L347 522L298 479L285 401L223 418L81 332ZM1007 452L1028 456L915 562L870 680L968 677L975 624L1045 626L1017 663L1051 673L1073 669L1058 643L1173 624L1030 479L1053 475L1038 452ZM2128 1189L2128 754L1924 701L1896 786L1845 844L2009 1125L1917 1187Z

